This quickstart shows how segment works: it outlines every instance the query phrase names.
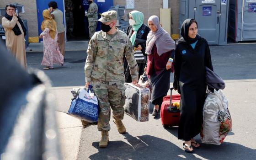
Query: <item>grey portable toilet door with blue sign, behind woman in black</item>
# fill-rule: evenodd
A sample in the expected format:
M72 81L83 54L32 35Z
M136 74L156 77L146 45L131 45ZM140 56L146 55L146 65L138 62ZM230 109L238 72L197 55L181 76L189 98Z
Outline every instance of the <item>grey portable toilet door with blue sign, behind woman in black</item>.
M195 19L198 23L198 34L208 44L219 44L220 0L196 0Z

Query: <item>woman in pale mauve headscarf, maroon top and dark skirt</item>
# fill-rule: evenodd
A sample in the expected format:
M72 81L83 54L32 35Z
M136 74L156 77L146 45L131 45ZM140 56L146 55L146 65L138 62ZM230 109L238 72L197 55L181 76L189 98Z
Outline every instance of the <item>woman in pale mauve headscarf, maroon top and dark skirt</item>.
M150 16L148 20L150 32L146 42L146 54L148 54L146 74L149 77L151 88L151 101L154 104L152 115L158 116L163 97L170 88L170 74L173 72L172 61L175 42L160 25L157 16Z

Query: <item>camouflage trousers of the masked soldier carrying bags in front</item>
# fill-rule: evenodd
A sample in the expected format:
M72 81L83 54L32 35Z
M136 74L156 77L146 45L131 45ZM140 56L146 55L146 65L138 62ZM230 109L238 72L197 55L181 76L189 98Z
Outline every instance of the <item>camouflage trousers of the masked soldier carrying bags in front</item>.
M123 105L125 102L124 81L105 82L92 79L92 86L98 98L98 130L110 130L110 112L112 108L113 118L122 120L124 115Z

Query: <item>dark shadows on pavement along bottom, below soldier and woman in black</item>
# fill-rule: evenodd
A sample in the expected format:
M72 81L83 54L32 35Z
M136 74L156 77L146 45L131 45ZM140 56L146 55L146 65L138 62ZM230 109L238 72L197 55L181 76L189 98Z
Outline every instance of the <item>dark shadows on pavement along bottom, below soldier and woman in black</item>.
M98 147L99 142L92 145L98 153L91 155L91 160L255 160L256 149L250 149L240 144L224 142L220 146L201 144L201 149L195 149L194 154L185 153L176 144L150 135L133 137L123 134L128 141L110 141L105 149ZM181 141L182 143L182 141Z

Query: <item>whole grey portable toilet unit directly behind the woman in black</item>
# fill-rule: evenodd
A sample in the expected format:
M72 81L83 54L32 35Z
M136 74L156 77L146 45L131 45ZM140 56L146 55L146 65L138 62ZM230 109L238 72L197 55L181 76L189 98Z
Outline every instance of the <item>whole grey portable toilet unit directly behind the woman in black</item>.
M180 25L182 19L193 18L198 24L198 34L208 44L227 44L227 0L181 0L181 3L180 8L185 8L185 11L180 11Z

